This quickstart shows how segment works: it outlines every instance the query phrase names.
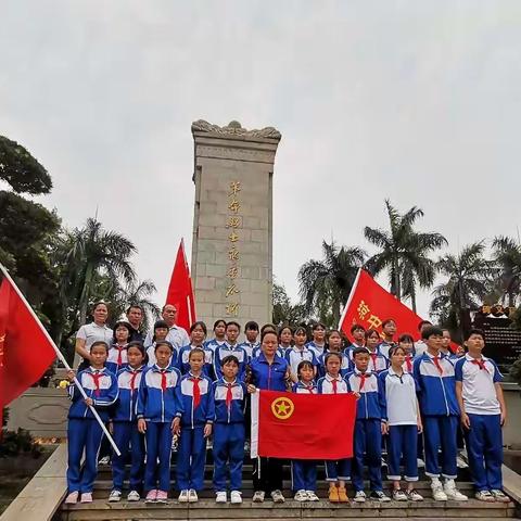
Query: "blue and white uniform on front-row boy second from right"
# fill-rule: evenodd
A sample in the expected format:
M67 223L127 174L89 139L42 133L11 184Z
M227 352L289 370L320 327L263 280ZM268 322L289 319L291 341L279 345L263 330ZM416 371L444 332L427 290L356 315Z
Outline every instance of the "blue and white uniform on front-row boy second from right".
M455 479L459 406L454 366L448 358L441 355L434 357L425 352L415 358L412 367L423 418L425 474L440 478L441 470L444 478ZM439 459L440 448L442 454Z

